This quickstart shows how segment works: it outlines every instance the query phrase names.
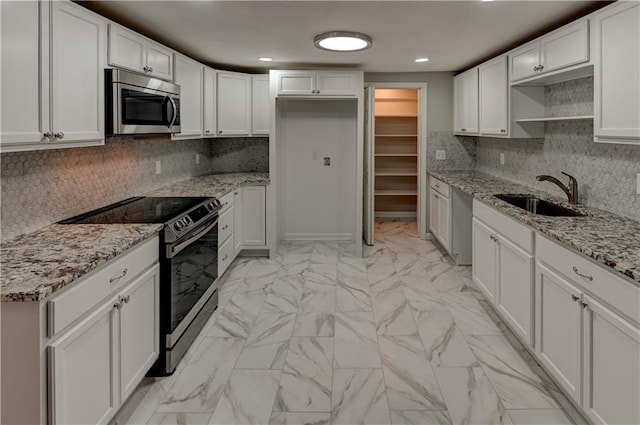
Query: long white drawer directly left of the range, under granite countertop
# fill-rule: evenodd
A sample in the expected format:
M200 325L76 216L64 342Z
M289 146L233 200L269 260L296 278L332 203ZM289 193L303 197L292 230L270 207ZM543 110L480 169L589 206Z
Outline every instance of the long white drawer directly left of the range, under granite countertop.
M47 305L48 336L52 337L65 329L104 298L157 263L158 252L156 236L80 278L81 281L72 284L69 290L56 295Z

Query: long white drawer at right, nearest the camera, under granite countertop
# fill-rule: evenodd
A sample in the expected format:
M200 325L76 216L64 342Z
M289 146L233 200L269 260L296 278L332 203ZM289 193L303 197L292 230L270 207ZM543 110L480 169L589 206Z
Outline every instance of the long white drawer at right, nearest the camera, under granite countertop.
M536 257L634 323L640 323L640 288L615 272L540 235L536 235Z

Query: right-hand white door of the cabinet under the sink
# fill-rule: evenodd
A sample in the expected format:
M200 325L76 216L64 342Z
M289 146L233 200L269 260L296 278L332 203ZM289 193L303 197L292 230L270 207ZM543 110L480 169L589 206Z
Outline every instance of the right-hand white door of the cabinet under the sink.
M498 236L498 309L529 346L533 336L533 256Z

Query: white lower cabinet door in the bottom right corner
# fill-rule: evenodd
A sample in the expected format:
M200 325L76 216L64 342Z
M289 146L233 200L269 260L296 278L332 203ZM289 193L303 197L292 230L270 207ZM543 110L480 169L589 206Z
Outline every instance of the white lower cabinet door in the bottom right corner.
M640 330L584 296L583 408L595 423L640 423Z

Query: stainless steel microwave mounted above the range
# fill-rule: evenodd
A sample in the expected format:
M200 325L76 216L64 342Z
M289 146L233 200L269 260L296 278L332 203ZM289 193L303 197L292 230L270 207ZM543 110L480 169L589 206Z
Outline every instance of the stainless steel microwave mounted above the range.
M108 136L180 132L179 85L121 69L105 69L104 80Z

